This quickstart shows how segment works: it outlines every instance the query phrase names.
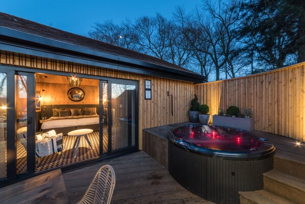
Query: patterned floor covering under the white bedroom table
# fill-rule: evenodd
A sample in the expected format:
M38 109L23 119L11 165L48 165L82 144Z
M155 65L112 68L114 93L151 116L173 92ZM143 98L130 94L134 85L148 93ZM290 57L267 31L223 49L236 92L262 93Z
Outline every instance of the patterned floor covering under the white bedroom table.
M92 149L87 143L85 137L81 137L79 150L77 156L73 158L72 147L75 141L74 136L64 135L65 149L63 150L65 158L60 152L51 154L40 158L40 165L38 165L38 158L36 157L36 172L52 169L55 167L65 166L68 164L90 160L99 156L99 132L94 131L87 134L91 143ZM108 131L104 128L103 131L103 153L108 151ZM17 173L27 171L27 151L24 149L20 141L17 139Z

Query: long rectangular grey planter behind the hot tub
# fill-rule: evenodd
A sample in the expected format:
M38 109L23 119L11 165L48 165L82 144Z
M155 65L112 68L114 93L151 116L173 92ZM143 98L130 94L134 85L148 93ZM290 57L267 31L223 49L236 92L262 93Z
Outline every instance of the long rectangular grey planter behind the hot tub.
M226 116L213 116L213 125L222 127L232 127L252 131L254 129L253 118L235 118Z

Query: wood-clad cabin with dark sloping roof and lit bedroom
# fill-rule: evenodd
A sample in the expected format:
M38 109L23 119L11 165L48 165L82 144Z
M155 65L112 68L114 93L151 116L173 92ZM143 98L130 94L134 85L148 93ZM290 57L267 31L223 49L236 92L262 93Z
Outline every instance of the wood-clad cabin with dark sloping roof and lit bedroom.
M0 13L0 185L141 150L143 128L188 121L194 84L204 80L156 57ZM93 132L69 134L78 129Z

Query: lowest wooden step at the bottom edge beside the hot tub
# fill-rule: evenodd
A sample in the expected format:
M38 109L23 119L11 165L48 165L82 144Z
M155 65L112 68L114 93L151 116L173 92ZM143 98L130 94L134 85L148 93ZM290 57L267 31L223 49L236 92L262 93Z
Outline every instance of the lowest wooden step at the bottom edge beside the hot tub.
M275 195L267 190L238 192L240 204L294 204L283 197Z

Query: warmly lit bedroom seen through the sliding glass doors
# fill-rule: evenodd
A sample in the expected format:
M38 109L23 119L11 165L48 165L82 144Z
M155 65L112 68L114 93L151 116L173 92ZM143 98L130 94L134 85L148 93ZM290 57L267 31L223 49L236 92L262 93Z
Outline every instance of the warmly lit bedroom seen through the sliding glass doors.
M111 80L109 85L109 81L80 78L74 83L67 76L40 73L34 78L35 172L94 160L108 155L109 150L116 152L136 146L136 82ZM17 174L27 172L29 159L28 82L26 75L16 77ZM68 135L80 129L92 129L93 132L86 137ZM48 146L42 143L48 143ZM46 152L37 152L43 148ZM74 149L77 149L75 155Z

